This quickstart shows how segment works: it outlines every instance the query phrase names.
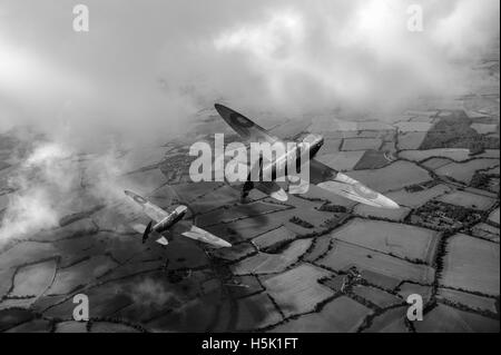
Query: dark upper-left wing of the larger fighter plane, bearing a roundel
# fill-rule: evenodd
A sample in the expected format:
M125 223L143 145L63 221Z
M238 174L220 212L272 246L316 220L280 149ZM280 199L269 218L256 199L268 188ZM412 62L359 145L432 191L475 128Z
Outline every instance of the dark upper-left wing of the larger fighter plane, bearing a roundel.
M254 124L247 117L232 110L230 108L216 103L215 108L217 112L223 117L226 124L233 128L243 139L252 142L269 142L274 144L279 141L278 137L271 135L263 127Z

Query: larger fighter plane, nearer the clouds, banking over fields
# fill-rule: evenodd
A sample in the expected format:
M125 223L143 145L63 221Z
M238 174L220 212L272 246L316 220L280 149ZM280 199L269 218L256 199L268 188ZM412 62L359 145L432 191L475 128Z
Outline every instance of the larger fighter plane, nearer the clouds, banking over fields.
M219 103L216 103L215 108L220 117L243 139L247 140L247 142L268 142L271 145L282 142L285 145L285 141L281 140L278 137L271 135L263 127L256 125L248 118L232 110L230 108ZM352 179L351 177L314 159L315 155L324 144L324 138L321 135L310 134L304 137L303 140L297 141L297 144L306 148L306 151L302 152L302 155L310 158L310 181L299 180L299 184L297 186L294 186L293 190L291 190L291 188L288 189L289 194L304 194L305 191L307 191L308 184L313 184L324 190L327 190L328 193L337 194L365 205L390 209L396 209L400 207L390 198L376 191L373 191L357 180ZM277 169L277 161L282 161L281 164L283 164L289 158L291 157L284 156L276 157L273 161L268 162L261 161L261 164L263 165L261 168L263 169L263 171L275 171ZM294 159L296 159L296 156L294 156ZM301 161L303 161L303 159ZM302 169L304 165L302 165L299 169ZM253 167L250 167L250 169L253 169ZM288 178L289 180L296 181L299 179L298 176L294 175L289 175ZM285 193L285 190L279 187L274 180L252 181L250 178L247 178L247 181L242 188L242 197L245 198L253 188L257 188L278 200L287 199L287 194Z

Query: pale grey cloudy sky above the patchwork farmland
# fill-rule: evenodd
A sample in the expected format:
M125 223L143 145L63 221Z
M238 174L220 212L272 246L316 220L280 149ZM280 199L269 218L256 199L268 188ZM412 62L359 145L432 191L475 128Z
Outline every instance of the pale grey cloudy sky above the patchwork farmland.
M89 32L72 29L77 3ZM407 30L411 3L422 32ZM497 36L498 0L0 0L0 130L158 135L219 98L392 108L464 91Z

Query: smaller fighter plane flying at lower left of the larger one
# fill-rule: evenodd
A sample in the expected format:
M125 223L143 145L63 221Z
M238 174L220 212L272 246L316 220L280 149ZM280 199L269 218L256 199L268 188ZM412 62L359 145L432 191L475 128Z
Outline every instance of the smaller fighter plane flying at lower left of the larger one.
M175 235L181 235L219 248L232 246L228 241L212 235L207 230L198 228L187 220L183 220L183 217L188 209L188 207L184 205L170 206L167 211L132 191L126 190L125 194L136 204L141 206L144 213L151 218L151 221L147 226L141 224L131 226L134 230L143 234L143 243L146 243L146 240L153 236L158 244L165 246L169 243L168 238Z

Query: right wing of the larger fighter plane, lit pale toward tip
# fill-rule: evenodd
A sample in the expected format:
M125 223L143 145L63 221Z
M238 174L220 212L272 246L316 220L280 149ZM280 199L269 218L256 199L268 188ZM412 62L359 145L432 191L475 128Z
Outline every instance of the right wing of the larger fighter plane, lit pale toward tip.
M310 184L365 205L399 208L399 205L390 198L315 159L310 160Z

